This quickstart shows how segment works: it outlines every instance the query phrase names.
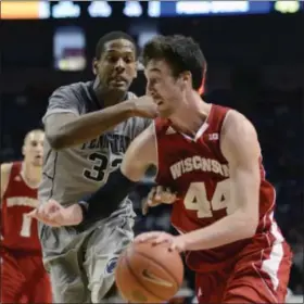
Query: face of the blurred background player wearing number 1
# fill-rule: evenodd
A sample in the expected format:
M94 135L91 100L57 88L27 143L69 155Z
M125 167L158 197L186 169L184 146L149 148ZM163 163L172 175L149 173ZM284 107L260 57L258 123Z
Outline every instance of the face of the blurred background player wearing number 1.
M30 132L23 145L24 161L33 166L42 166L45 134Z

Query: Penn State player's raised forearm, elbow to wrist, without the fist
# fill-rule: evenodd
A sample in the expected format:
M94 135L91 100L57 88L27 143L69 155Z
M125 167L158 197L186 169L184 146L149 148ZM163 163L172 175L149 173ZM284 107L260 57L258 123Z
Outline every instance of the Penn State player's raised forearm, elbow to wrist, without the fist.
M128 119L132 116L132 101L130 100L85 114L62 124L48 139L52 148L59 150L83 144Z

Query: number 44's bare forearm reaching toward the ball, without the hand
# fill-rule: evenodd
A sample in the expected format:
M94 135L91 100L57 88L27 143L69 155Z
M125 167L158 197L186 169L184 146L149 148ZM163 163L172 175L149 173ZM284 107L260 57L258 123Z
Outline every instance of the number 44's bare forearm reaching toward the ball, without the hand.
M179 236L187 251L207 250L251 238L256 230L256 220L237 211L202 229Z

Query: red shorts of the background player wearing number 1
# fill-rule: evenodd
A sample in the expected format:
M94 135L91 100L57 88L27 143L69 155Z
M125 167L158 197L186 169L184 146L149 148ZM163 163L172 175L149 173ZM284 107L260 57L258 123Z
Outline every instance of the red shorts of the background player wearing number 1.
M52 303L41 256L1 253L1 303Z

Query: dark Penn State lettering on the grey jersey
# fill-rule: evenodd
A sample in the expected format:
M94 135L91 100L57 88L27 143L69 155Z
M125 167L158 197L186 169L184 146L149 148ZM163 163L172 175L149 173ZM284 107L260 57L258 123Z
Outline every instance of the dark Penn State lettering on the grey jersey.
M124 153L127 150L131 139L128 136L121 134L106 134L99 138L94 138L89 142L85 142L81 150L86 149L109 149L113 153Z

